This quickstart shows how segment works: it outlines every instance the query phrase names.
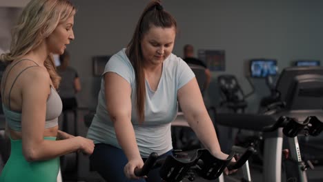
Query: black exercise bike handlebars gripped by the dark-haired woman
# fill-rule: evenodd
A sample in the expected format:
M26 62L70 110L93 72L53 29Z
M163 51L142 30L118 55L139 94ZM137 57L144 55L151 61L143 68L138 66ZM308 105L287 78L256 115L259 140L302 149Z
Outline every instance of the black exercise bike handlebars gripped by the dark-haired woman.
M219 178L225 168L228 170L241 168L253 153L254 149L248 148L237 162L231 162L235 152L231 152L227 159L217 159L206 149L195 150L192 157L183 157L183 152L175 152L174 155L164 159L157 159L158 154L153 152L142 168L135 169L135 175L146 176L150 170L160 168L159 174L165 182L179 182L183 179L194 181L195 175L214 180Z

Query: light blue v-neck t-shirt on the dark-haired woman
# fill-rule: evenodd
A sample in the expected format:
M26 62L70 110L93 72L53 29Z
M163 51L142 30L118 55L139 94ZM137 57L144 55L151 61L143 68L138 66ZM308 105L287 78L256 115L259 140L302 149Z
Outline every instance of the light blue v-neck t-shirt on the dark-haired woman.
M173 148L170 123L177 116L177 91L195 75L181 58L170 54L163 63L157 90L151 90L146 81L145 121L139 124L136 110L135 70L125 51L126 49L123 49L110 58L102 75L106 72L115 72L126 79L131 86L131 122L141 157L148 157L151 152L164 154ZM107 143L121 148L106 110L104 77L101 79L97 112L88 130L88 138L95 143Z

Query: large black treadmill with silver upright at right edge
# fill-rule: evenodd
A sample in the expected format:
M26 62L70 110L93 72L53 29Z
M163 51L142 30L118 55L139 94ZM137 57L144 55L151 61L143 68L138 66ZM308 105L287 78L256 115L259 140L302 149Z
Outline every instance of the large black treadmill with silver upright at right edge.
M261 132L266 125L273 125L281 116L304 121L309 116L323 120L323 68L291 67L280 74L276 88L280 101L273 103L264 114L220 114L216 123ZM315 121L312 121L315 123ZM315 125L315 124L314 124ZM312 131L314 134L317 132ZM264 179L280 182L282 168L282 129L264 133ZM322 145L322 142L319 143Z

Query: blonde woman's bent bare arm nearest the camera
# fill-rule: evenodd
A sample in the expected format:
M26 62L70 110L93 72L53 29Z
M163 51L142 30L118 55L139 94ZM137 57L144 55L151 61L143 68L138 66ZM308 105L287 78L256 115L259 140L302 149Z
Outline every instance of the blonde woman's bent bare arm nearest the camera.
M46 70L35 67L26 70L22 78L21 138L23 156L25 156L26 160L42 161L53 159L77 150L92 154L94 149L93 141L81 136L59 141L43 139L46 102L50 94L50 77ZM58 129L58 126L55 126L55 128Z

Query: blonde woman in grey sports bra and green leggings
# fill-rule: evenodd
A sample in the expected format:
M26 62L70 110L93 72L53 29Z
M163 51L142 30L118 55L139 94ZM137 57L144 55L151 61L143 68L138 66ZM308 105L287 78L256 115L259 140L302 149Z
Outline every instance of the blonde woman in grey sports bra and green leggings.
M0 181L57 181L59 156L94 143L58 130L61 99L52 54L63 54L74 39L75 7L68 0L31 0L12 32L1 80L3 112L11 154Z

